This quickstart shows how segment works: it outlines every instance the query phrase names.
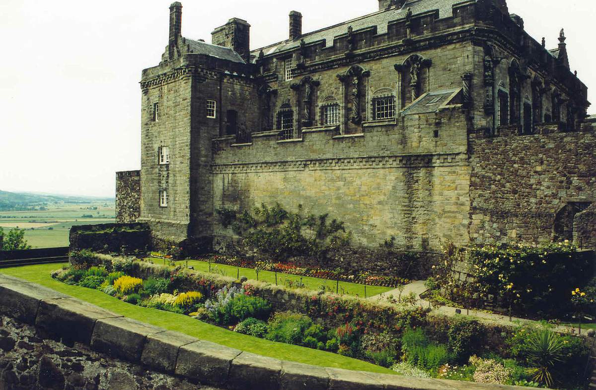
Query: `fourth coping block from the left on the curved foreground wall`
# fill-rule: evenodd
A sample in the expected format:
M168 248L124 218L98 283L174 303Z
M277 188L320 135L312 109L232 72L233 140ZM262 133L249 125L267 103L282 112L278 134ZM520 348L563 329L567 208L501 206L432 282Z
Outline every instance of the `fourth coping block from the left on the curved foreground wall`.
M180 347L195 341L198 339L172 331L147 335L141 363L162 372L173 373Z

